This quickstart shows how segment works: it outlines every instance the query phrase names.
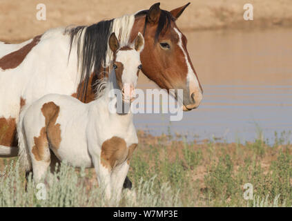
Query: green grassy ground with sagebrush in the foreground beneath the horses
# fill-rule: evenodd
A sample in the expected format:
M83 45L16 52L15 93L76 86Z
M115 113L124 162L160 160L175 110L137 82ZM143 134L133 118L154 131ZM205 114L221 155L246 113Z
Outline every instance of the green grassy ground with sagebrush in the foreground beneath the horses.
M128 173L134 190L111 206L292 206L292 146L284 136L275 135L273 145L262 136L196 144L140 134ZM61 164L48 175L47 200L37 200L38 190L30 180L26 191L13 160L0 167L0 206L108 206L92 169ZM244 200L246 183L253 185L252 200Z

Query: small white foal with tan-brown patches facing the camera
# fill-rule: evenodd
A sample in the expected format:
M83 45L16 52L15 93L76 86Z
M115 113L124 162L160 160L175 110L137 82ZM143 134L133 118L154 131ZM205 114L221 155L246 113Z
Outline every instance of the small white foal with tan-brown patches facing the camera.
M144 37L139 33L132 45L120 48L113 33L108 44L114 53L113 68L97 99L84 104L68 95L45 95L23 109L17 132L21 162L35 182L48 170L52 151L72 166L94 167L106 199L118 200L138 138L133 114L113 113L108 106L133 99ZM110 96L113 90L121 96Z

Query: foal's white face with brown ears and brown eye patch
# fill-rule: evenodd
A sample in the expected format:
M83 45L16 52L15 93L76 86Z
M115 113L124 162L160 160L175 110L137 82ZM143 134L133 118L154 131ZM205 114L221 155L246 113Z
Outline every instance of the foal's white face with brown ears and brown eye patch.
M120 47L115 33L112 33L108 44L114 54L113 68L122 99L124 102L132 102L135 99L139 70L142 68L140 52L144 48L144 37L139 32L132 45Z

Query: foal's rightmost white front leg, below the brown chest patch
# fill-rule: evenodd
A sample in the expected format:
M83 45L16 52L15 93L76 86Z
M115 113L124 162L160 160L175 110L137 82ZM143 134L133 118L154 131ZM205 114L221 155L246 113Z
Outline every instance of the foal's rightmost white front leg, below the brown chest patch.
M121 198L121 189L123 188L129 167L128 162L125 161L119 166L116 166L111 175L111 189L113 190L117 201Z

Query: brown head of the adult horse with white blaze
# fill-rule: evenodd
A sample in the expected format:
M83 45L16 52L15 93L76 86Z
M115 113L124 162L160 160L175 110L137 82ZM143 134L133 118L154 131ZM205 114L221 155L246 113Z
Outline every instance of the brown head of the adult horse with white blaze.
M175 21L189 5L171 12L155 3L149 10L137 12L131 38L144 33L145 48L141 52L142 71L160 88L183 89L184 111L197 108L202 100L202 86L186 50L186 37ZM177 98L177 94L175 94ZM178 99L178 98L177 98Z

